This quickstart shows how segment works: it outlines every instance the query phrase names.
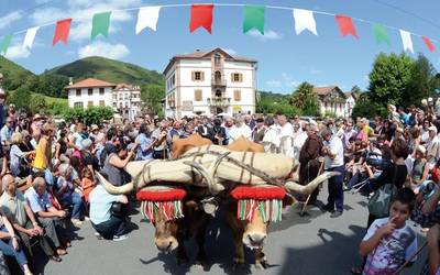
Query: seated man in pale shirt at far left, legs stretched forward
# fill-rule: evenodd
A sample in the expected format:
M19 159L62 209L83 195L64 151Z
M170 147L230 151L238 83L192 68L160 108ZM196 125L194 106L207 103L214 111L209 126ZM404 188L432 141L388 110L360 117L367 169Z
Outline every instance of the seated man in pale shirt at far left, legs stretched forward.
M51 260L61 262L62 258L55 255L47 237L44 235L43 229L38 226L24 195L16 189L15 179L11 175L6 175L1 179L1 184L3 194L0 197L0 208L19 233L31 258L34 258L31 239L36 239L43 252Z

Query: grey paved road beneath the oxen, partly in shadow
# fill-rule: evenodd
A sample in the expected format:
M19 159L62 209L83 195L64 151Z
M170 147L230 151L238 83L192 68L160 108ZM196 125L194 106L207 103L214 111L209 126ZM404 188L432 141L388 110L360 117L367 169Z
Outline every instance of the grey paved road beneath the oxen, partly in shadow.
M326 199L324 191L319 198ZM358 245L365 233L366 199L360 195L345 196L344 215L330 219L316 207L309 209L309 217L298 216L297 207L284 217L280 223L271 226L268 244L265 248L271 267L256 270L253 265L240 272L231 271L233 249L228 227L220 220L212 222L207 251L212 266L210 274L350 274L350 267L360 263ZM76 232L78 241L73 242L63 263L50 262L45 274L207 274L199 266L178 266L173 255L158 254L153 245L153 227L141 222L141 215L132 217L133 231L122 242L99 241L94 237L90 223ZM419 232L419 230L418 230ZM419 243L422 237L419 235ZM193 243L186 243L193 252ZM249 251L248 251L249 252ZM248 253L248 261L252 258ZM404 274L418 274L421 260Z

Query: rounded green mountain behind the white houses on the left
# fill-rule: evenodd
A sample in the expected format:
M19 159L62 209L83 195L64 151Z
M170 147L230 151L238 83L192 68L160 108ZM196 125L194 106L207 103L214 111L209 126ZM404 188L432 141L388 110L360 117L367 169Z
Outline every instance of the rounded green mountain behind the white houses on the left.
M88 77L99 78L110 82L157 84L164 85L164 77L155 70L113 61L105 57L86 57L45 72L43 75L61 75L73 77L78 81Z

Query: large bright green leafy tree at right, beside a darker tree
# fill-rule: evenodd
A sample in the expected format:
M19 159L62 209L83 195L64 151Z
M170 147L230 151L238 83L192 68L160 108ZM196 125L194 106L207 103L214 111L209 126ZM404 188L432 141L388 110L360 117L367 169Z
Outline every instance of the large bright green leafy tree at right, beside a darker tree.
M371 102L381 102L383 107L388 103L405 103L403 96L411 80L413 65L414 61L406 54L377 55L370 73Z

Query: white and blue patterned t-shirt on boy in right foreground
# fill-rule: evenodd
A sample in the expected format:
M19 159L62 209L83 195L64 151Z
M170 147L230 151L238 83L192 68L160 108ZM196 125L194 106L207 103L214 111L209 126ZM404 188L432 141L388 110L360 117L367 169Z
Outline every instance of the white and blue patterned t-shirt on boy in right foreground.
M371 224L363 241L369 240L382 226L388 222L388 218L377 219ZM402 229L395 229L393 233L383 238L378 245L366 257L364 275L391 275L409 260L417 251L417 237L410 227L405 224ZM415 261L415 260L414 260Z

